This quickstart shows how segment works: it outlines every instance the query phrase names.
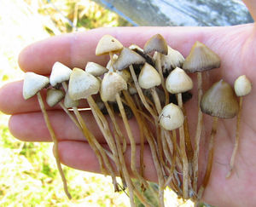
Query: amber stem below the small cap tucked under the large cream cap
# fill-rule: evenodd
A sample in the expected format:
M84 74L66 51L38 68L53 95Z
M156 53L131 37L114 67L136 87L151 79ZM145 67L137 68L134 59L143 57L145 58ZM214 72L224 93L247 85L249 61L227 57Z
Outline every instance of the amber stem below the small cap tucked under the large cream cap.
M118 192L119 191L118 182L116 181L116 177L114 175L113 167L112 167L112 165L110 164L110 162L108 160L106 152L103 150L100 143L96 140L96 137L87 128L86 124L84 123L84 119L81 117L81 114L79 113L78 108L73 107L73 110L74 110L74 113L75 113L76 117L79 120L79 124L81 124L84 136L86 137L87 141L89 142L90 147L96 153L96 157L98 158L99 164L102 168L101 170L103 170L103 173L106 175L106 170L104 170L103 164L102 164L102 158L103 158L103 161L105 162L106 168L108 169L108 172L112 177L114 191ZM100 156L100 154L102 155L102 157Z

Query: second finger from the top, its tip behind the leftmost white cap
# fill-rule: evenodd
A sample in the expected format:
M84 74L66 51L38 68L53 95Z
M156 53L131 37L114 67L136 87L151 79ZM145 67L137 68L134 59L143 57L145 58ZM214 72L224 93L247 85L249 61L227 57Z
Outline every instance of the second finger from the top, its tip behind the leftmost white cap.
M25 100L22 95L23 81L14 83L7 83L0 89L0 111L6 114L17 114L26 112L38 112L40 106L38 104L38 97L34 95L32 98ZM48 106L45 102L46 89L43 89L42 97L44 99L44 106L47 110L60 109L59 105L54 107ZM81 107L89 107L87 101L80 101Z

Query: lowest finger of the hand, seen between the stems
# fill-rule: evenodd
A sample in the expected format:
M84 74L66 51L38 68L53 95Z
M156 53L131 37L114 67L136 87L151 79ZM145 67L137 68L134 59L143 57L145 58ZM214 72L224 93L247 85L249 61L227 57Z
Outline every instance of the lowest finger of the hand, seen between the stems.
M81 141L61 141L59 143L59 152L61 162L69 167L78 170L102 173L95 153L90 148L89 144ZM124 153L126 166L131 164L131 147L127 146ZM154 162L148 145L144 149L144 177L148 181L157 181L157 175L154 169ZM113 163L112 163L113 164ZM114 164L113 164L114 166ZM137 169L139 165L139 147L137 147ZM128 167L131 174L131 169Z

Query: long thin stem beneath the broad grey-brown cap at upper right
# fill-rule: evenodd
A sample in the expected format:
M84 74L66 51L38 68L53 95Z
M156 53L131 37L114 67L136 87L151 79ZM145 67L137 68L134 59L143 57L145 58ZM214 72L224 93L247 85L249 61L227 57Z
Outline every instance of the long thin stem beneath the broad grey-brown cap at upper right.
M198 113L197 113L197 125L196 125L196 132L195 132L195 151L194 151L194 158L193 158L193 190L197 191L197 182L198 182L198 158L199 158L199 151L200 151L200 140L201 140L201 130L203 126L203 115L201 112L200 102L202 97L202 77L201 72L197 72L197 90L198 90L198 98L197 98L197 105L198 105Z

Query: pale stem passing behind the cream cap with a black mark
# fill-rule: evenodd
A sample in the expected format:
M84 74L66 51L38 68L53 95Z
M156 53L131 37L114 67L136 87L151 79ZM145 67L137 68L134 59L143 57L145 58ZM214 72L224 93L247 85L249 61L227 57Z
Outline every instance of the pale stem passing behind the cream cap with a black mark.
M183 108L183 100L182 94L177 94L177 103L180 108ZM188 188L189 188L189 162L186 154L186 144L185 144L185 135L184 135L184 127L183 125L178 129L180 135L180 150L181 150L181 157L183 160L183 198L187 199Z

